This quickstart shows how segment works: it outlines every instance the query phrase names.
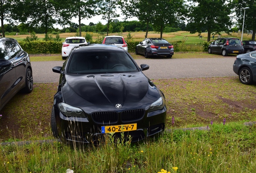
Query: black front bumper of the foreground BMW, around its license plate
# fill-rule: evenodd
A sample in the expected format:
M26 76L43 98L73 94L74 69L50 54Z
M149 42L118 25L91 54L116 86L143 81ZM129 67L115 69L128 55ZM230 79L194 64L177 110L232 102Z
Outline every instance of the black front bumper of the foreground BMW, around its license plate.
M137 123L136 131L124 132L124 137L132 137L132 142L140 141L146 137L154 136L161 133L165 129L166 123L166 107L162 110L146 113L139 120L122 121L121 113L118 114L118 122L114 123L97 123L92 117L66 117L58 110L56 116L56 123L58 127L58 135L67 142L76 143L97 143L104 135L108 133L101 133L101 127L105 125L125 125L130 123ZM121 133L115 133L116 137L120 137Z

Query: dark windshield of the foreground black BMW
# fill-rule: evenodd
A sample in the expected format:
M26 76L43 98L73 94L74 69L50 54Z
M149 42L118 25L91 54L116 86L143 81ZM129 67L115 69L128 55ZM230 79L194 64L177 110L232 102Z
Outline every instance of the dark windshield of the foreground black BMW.
M96 74L138 72L130 56L123 51L74 52L70 57L68 73Z

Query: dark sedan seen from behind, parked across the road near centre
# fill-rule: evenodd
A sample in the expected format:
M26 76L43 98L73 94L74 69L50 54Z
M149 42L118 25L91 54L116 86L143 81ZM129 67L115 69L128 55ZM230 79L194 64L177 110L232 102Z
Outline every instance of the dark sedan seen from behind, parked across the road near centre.
M149 58L149 56L166 56L171 58L173 52L173 45L163 38L145 38L135 48L135 53L144 54L145 58Z

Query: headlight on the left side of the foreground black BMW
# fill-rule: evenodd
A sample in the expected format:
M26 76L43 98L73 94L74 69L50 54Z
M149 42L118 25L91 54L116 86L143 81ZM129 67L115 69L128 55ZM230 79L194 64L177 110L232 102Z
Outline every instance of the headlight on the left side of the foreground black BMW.
M72 107L66 103L59 103L58 107L60 112L67 117L86 117L82 109L77 107Z

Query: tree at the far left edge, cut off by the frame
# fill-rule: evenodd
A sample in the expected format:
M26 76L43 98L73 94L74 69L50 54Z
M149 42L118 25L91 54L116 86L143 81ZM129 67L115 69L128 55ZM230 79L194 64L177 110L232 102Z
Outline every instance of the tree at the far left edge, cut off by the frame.
M1 19L1 28L2 28L2 36L5 37L4 34L4 20L10 20L11 13L11 3L10 0L0 0L0 19Z

